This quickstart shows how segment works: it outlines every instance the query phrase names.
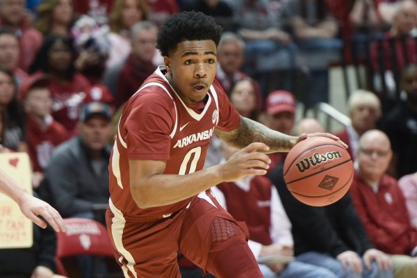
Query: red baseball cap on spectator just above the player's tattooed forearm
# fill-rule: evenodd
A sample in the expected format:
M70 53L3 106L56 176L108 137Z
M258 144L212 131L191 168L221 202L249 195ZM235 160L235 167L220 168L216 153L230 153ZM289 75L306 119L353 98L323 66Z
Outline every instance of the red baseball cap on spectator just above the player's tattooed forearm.
M280 112L295 113L295 97L291 92L277 90L270 92L266 98L266 113L273 115Z

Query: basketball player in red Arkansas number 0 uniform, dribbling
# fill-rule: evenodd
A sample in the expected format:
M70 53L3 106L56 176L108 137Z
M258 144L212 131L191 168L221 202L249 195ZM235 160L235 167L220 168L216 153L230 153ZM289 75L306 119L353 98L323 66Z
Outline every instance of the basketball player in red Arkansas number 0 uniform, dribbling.
M167 19L157 40L165 65L124 106L110 158L106 220L126 277L181 277L179 250L215 277L262 277L247 228L209 188L265 174L270 159L263 152L288 152L307 135L272 131L229 104L214 81L221 31L203 13ZM214 132L240 150L202 170Z

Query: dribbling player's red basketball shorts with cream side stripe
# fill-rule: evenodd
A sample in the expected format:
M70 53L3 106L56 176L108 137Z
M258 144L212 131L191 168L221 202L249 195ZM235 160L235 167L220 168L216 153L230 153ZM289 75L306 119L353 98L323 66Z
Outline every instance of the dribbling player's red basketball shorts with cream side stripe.
M236 260L239 265L248 265L248 270L241 266L235 270L247 274L239 276L234 272L233 277L262 277L247 247L246 225L234 220L213 197L196 197L188 208L156 222L124 218L111 205L106 212L106 221L116 260L125 277L180 278L177 264L180 251L199 268L220 278L221 272L215 270L218 262L213 256L218 256L223 250L230 259L220 260L226 269L236 264Z

